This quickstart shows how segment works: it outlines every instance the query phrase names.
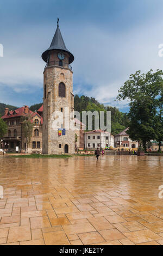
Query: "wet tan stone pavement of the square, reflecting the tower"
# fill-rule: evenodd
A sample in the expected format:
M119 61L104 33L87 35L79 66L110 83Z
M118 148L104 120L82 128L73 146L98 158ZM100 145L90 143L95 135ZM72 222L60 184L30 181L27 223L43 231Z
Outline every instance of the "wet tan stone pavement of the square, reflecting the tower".
M163 156L0 156L0 185L0 244L163 245Z

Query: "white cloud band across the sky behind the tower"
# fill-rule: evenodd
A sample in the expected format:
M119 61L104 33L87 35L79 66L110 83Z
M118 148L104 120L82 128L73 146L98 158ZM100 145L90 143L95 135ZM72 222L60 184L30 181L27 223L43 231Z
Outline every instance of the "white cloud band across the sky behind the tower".
M120 33L91 23L60 28L67 48L75 57L74 93L121 108L127 106L126 101L114 100L129 75L137 70L162 69L163 58L158 56L158 45L163 43L162 26L162 20L155 18ZM10 45L6 39L4 57L0 58L0 84L7 84L17 93L42 88L45 63L41 53L53 38L51 28L38 25L25 32L17 31Z

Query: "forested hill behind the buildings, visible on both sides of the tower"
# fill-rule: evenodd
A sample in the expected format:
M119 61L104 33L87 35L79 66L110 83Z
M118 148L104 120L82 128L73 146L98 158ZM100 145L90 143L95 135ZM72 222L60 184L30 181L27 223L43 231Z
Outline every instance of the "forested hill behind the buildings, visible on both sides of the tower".
M30 110L35 112L42 106L42 103L37 103L30 106ZM17 107L6 105L4 103L0 103L0 115L4 114L5 107L9 108L9 110L14 110ZM99 103L93 97L87 96L74 96L74 110L79 111L111 111L111 132L112 134L117 134L123 131L128 126L128 117L126 113L122 113L116 107L107 106L105 107L103 104Z

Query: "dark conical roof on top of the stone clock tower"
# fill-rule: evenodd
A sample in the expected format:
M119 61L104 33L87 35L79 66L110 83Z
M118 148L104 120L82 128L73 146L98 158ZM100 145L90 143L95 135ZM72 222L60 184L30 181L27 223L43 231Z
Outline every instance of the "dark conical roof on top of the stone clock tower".
M62 35L61 35L61 32L60 32L60 29L59 29L58 25L57 25L57 29L55 31L53 40L51 42L51 46L45 52L42 53L42 59L45 62L47 62L48 52L51 51L51 50L62 50L62 51L67 52L70 55L69 64L72 63L73 60L74 60L73 54L70 51L68 51L67 48L66 48L64 39L62 38Z

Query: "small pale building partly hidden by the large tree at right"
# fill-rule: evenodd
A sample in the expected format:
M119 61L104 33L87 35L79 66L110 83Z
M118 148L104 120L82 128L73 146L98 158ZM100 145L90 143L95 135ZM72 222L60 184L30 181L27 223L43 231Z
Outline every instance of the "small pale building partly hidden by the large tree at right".
M127 134L128 128L123 130L122 132L115 135L115 147L116 148L123 148L123 149L131 149L131 148L138 148L138 142L131 141L129 135Z

